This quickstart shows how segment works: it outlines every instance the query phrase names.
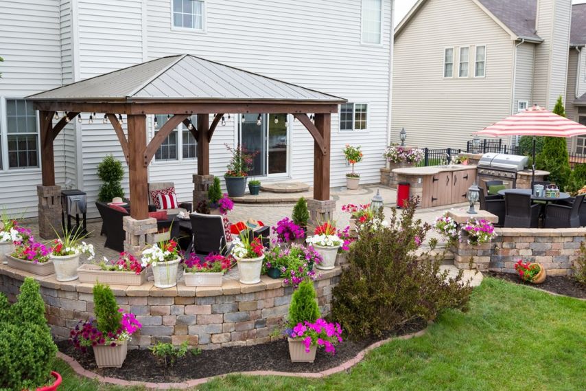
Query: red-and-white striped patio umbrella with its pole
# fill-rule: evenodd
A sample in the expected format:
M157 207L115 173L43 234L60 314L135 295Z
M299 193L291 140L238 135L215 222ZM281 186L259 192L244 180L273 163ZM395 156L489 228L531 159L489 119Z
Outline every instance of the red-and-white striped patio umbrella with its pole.
M568 120L539 106L511 115L502 121L487 126L475 135L491 137L533 136L533 176L535 177L535 137L574 137L586 135L586 126Z

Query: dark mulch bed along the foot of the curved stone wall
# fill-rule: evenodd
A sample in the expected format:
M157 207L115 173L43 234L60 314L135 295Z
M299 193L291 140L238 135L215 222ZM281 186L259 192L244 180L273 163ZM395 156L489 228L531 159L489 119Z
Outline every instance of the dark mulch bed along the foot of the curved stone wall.
M150 350L128 350L128 356L122 368L99 369L95 366L93 351L80 353L69 341L57 342L62 353L73 357L80 365L104 377L124 380L150 381L154 383L180 382L224 375L231 372L248 372L255 370L274 370L280 372L321 372L336 367L352 359L367 346L392 336L416 333L427 327L424 320L414 320L395 330L385 333L381 338L364 339L354 342L344 340L336 346L336 355L318 349L314 363L292 363L289 357L287 339L279 339L268 344L255 346L234 346L215 350L202 350L200 355L187 353L172 366L158 361Z

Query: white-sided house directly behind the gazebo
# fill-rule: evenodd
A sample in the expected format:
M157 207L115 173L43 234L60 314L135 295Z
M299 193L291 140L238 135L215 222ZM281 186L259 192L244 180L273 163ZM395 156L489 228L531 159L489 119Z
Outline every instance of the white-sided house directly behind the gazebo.
M37 213L38 113L23 98L184 53L347 99L332 116L331 185L344 186L347 143L362 146L362 183L378 182L390 137L392 14L392 0L1 1L1 204ZM89 216L97 216L97 164L110 153L125 159L111 124L89 114L56 139L55 175L63 188L86 192ZM166 119L148 118L149 138ZM210 145L213 175L226 169L224 144L258 151L257 179L312 184L314 142L292 115L226 113ZM157 150L149 181L172 181L179 199L191 199L196 150L181 124ZM128 175L123 186L128 192Z

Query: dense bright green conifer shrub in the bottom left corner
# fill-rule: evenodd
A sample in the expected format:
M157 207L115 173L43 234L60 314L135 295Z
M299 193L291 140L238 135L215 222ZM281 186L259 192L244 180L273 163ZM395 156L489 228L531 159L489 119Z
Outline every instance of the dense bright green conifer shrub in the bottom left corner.
M0 293L0 346L1 389L57 390L61 377L51 372L57 346L47 326L45 303L34 278L25 278L12 306Z

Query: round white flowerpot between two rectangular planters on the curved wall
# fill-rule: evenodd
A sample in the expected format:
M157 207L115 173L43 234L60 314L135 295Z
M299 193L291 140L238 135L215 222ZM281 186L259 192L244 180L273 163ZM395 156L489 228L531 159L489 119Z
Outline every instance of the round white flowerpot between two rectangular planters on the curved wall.
M161 241L144 249L141 265L152 267L155 287L171 288L177 284L177 269L180 261L179 246L176 241L170 240Z

